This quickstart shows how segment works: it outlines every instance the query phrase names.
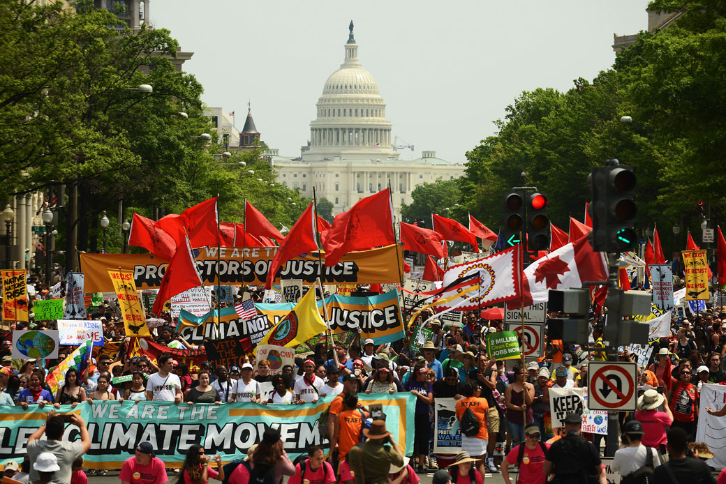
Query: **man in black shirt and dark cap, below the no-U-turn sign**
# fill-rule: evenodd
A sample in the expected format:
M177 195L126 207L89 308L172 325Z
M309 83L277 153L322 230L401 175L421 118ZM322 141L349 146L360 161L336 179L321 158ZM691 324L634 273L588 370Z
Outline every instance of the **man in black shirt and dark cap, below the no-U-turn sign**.
M552 443L544 457L544 475L554 474L555 483L586 483L584 476L597 475L598 482L606 484L600 452L580 435L582 415L567 414L564 423L566 434Z

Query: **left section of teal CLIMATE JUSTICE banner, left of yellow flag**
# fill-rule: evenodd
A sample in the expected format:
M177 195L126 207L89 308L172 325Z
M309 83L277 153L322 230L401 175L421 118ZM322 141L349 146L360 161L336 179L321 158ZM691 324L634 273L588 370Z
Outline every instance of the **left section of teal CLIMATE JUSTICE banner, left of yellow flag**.
M240 319L234 307L221 308L219 316L217 314L216 309L203 316L194 316L182 310L176 323L176 332L192 345L203 344L205 338L213 341L248 337L254 347L270 329L264 314L246 321Z

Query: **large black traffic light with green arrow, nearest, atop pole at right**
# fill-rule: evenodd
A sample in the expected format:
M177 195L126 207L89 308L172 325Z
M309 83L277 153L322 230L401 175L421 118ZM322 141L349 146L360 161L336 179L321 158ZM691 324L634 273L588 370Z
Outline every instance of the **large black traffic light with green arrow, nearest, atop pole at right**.
M587 184L592 193L588 208L592 218L589 240L592 250L619 253L637 244L633 229L637 207L633 200L635 174L632 167L619 166L608 160L608 166L592 168Z

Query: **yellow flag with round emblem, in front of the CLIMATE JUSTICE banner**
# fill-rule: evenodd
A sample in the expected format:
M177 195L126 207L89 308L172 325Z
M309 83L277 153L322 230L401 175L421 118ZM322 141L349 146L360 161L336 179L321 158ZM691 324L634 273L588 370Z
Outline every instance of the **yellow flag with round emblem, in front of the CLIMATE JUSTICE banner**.
M295 305L293 311L287 313L262 338L259 345L296 346L305 343L311 337L327 332L327 326L318 312L315 301L315 288L312 287Z

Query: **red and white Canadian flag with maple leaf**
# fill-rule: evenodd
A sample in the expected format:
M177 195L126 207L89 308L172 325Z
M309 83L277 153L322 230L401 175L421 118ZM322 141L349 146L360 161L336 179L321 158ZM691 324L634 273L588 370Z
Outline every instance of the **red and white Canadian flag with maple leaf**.
M608 263L605 255L592 251L586 235L537 259L522 271L524 305L546 301L550 289L582 287L583 281L607 279Z

